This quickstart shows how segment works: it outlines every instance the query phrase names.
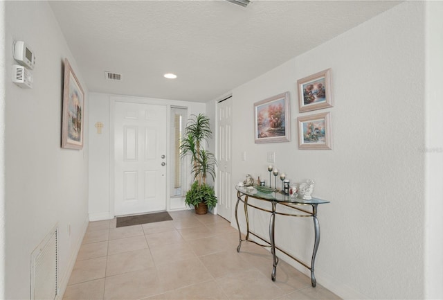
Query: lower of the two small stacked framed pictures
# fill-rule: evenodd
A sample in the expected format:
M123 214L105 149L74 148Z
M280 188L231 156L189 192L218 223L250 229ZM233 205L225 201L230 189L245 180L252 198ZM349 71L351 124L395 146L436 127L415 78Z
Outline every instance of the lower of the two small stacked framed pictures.
M300 116L297 121L298 149L332 149L329 112Z

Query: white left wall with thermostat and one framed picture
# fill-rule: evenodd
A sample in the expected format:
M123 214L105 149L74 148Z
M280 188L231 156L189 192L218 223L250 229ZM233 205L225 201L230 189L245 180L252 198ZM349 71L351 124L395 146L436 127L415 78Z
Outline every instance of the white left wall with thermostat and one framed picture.
M0 296L30 298L31 253L57 223L61 296L86 230L88 205L88 132L84 132L83 150L60 147L64 58L82 84L86 104L88 91L48 3L3 3L6 107L1 127L6 145L2 173L6 175L6 237L2 240L5 292ZM10 80L14 40L24 40L37 55L33 89L21 89Z

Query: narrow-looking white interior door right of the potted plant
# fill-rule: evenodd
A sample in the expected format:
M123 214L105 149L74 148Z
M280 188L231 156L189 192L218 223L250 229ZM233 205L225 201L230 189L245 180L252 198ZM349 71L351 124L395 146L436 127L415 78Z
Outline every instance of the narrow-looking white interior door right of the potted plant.
M232 211L232 98L217 104L218 191L217 214L230 221Z

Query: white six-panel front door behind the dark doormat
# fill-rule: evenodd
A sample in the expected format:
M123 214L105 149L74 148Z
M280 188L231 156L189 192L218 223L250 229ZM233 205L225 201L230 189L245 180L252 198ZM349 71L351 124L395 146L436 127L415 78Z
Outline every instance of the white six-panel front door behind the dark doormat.
M123 102L115 108L115 214L164 211L167 109Z

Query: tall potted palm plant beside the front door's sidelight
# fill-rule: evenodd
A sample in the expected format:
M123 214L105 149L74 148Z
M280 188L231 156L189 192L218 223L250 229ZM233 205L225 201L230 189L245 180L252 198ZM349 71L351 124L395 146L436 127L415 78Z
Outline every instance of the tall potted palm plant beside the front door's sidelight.
M207 116L192 115L186 124L185 136L180 145L180 156L182 159L190 157L191 173L194 176L194 183L186 193L185 203L194 206L197 214L207 213L208 207L213 208L217 204L213 187L206 183L208 175L215 179L217 160L213 153L203 148L204 143L208 145L212 134Z

